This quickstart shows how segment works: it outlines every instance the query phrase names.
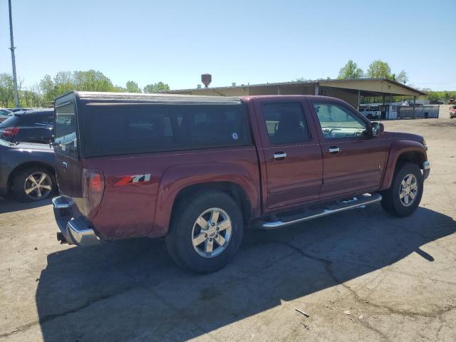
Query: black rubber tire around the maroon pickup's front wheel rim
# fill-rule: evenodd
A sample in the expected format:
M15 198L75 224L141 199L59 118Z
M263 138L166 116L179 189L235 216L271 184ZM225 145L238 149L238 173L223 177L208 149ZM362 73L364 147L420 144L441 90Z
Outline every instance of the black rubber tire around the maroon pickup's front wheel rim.
M417 191L413 202L406 205L400 199L401 183L405 176L415 176ZM383 209L389 214L397 217L407 217L415 212L418 205L420 205L421 197L423 196L423 175L418 165L413 162L400 162L396 165L391 187L385 190L381 201ZM410 198L410 197L409 197Z

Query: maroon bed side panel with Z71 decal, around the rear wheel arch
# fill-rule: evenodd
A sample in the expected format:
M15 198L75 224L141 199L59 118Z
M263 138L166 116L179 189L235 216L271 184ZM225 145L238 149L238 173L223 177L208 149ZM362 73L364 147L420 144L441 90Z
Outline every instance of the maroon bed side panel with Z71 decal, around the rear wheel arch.
M92 219L103 239L162 237L172 205L183 188L229 181L241 186L252 211L259 212L259 168L254 146L90 158L84 167L103 170L105 192ZM147 182L116 185L131 175L150 174Z

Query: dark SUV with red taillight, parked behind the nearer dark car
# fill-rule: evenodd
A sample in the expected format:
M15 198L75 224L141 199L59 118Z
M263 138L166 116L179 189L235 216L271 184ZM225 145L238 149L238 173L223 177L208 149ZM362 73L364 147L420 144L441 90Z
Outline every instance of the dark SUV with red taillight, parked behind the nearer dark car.
M16 112L0 123L0 139L48 144L53 136L53 108Z

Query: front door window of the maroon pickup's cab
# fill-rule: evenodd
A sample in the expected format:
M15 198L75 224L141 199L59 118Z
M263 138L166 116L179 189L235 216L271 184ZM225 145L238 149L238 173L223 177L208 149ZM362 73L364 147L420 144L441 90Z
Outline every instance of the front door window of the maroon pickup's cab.
M314 108L325 139L360 137L366 132L366 123L341 105L314 103Z

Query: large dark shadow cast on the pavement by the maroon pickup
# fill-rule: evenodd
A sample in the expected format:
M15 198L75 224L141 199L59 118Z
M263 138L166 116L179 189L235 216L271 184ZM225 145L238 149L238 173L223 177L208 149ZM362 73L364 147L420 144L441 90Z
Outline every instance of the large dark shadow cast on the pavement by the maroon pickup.
M420 247L455 231L451 217L430 209L398 219L373 205L281 230L248 231L232 263L207 275L177 268L162 239L74 247L48 255L41 272L41 331L45 341L184 341L413 252L432 269L438 256ZM242 324L248 331L251 323Z

